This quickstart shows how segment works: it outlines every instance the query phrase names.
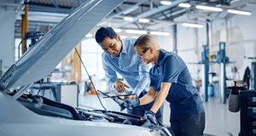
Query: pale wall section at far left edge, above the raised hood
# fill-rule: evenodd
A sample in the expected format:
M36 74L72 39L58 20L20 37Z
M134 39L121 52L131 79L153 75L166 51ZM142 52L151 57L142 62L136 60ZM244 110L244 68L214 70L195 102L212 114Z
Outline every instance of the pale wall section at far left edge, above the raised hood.
M0 59L7 71L15 62L15 9L0 8Z

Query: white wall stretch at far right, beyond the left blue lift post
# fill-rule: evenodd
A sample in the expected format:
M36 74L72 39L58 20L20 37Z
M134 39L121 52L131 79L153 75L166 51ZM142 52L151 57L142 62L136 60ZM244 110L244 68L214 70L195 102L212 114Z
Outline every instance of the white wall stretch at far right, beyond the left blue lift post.
M241 80L246 67L251 69L252 59L244 59L244 56L256 56L256 8L246 6L243 10L252 11L252 15L233 15L227 20L213 22L212 52L218 50L218 42L226 42L226 55L234 64L227 65L227 77L233 78L231 67L236 66ZM238 77L236 77L238 78Z

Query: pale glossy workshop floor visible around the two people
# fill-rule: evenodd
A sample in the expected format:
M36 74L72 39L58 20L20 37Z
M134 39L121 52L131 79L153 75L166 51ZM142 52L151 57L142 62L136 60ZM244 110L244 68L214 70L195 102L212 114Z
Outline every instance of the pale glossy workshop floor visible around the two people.
M102 99L102 96L100 95ZM112 99L102 99L102 104L108 111L119 111L117 105ZM165 102L164 124L170 126L170 109L169 103ZM237 136L240 131L240 114L228 111L228 104L220 104L218 98L211 98L205 102L206 109L206 135L229 136L231 133ZM96 95L79 95L79 106L90 107L93 109L103 109ZM123 111L125 112L125 111Z

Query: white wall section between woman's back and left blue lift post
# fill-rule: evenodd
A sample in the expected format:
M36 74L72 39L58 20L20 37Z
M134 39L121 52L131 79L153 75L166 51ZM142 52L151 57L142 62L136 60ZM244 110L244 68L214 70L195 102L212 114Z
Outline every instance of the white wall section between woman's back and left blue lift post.
M202 24L202 23L201 23ZM191 77L194 80L201 79L201 61L202 46L207 44L206 26L203 28L192 28L177 25L177 54L187 64Z

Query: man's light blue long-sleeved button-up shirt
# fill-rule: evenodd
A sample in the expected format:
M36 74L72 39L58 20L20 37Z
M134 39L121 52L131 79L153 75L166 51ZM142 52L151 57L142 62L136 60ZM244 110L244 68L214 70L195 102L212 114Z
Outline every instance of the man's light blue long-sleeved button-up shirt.
M113 83L118 80L117 73L124 77L124 82L130 87L125 88L127 93L141 94L143 90L148 90L150 78L150 65L146 65L141 59L138 59L134 50L136 39L127 38L122 40L122 51L118 57L105 52L102 53L102 64L107 77L108 88L117 94L113 88Z

